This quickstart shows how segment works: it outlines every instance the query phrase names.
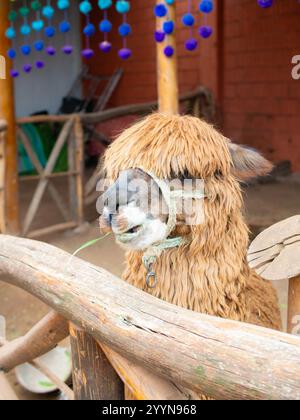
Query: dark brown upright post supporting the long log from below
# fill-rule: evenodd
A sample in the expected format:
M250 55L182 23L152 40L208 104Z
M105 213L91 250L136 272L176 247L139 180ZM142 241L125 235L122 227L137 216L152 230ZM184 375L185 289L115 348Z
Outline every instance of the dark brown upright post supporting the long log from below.
M75 400L123 400L124 386L98 343L70 324Z

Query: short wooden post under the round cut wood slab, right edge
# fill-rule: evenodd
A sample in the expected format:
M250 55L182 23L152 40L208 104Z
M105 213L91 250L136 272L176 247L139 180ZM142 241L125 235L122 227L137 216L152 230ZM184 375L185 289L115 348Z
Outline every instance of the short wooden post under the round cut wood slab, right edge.
M300 276L289 280L288 332L300 334Z

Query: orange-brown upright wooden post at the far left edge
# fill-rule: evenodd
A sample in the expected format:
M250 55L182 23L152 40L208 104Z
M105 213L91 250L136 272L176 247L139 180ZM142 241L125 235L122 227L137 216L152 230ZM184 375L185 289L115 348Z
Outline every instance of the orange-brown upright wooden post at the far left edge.
M9 26L9 1L0 2L0 45L2 51L10 48L10 41L5 36ZM17 140L14 107L13 80L9 75L10 61L6 60L6 78L0 78L0 118L6 120L6 227L10 233L19 232L19 197L18 197L18 164Z

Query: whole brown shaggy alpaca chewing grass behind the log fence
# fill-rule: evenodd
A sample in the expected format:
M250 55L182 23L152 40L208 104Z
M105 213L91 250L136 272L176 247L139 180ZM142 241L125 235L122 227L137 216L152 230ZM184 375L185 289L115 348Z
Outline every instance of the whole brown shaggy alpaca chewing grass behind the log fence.
M249 238L239 183L267 174L272 165L266 159L231 143L198 118L156 113L125 130L108 148L103 166L112 182L106 197L112 191L120 194L115 213L104 207L100 228L112 230L128 250L124 280L193 311L281 329L275 290L247 263ZM164 207L154 176L202 179L206 197L194 201L201 202L203 221L188 225L184 214L177 214L177 224L168 232L166 212L144 210L147 193L122 195L124 171L130 179L154 183L152 199L160 198ZM155 258L150 271L155 271L157 284L149 287L143 255L166 236L182 241Z

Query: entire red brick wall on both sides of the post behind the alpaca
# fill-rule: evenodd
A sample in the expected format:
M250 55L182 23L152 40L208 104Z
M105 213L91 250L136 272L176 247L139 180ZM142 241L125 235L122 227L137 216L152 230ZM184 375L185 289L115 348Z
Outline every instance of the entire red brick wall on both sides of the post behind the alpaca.
M214 36L206 41L199 38L200 48L189 53L184 49L188 30L179 20L187 2L177 1L180 92L200 84L207 86L216 97L220 125L228 137L257 147L274 162L288 159L299 171L300 80L291 78L291 58L300 54L300 4L296 0L276 0L274 7L264 10L256 0L217 3L219 14L221 4L224 6L223 36L215 12L209 17ZM125 75L111 105L156 99L154 4L155 0L132 0L130 61L120 62L117 57L121 41L116 27L121 17L112 13L115 50L109 55L99 52L90 63L95 74L109 74L120 65L124 68ZM195 1L195 8L197 4ZM98 24L99 13L94 16ZM94 37L94 48L100 41L100 34Z

